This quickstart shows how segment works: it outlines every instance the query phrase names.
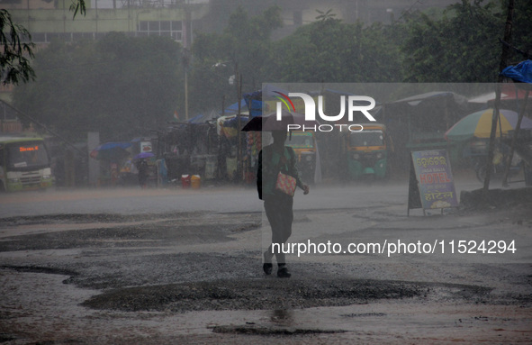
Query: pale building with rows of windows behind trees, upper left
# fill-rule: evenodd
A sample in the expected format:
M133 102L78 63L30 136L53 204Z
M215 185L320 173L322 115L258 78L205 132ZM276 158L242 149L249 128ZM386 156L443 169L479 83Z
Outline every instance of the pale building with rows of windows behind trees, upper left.
M38 45L53 40L97 40L107 32L168 36L186 45L194 20L209 11L208 0L87 0L86 15L73 18L70 4L71 0L0 0Z

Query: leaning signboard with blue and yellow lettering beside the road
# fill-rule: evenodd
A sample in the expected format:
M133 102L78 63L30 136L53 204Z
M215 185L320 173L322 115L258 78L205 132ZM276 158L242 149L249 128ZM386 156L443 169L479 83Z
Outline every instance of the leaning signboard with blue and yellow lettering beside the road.
M446 150L411 153L410 208L428 209L457 207L455 183Z

